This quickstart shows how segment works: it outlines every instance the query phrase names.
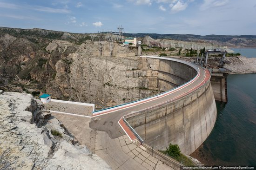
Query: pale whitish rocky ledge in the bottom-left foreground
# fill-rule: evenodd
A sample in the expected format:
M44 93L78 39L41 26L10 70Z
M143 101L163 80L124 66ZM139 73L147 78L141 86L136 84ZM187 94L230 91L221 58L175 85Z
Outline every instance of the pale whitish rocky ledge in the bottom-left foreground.
M0 169L110 169L42 109L30 95L0 92Z

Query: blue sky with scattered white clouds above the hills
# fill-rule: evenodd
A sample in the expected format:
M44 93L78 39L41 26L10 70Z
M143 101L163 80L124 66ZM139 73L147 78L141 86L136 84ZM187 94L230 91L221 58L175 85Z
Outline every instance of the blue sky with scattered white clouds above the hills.
M256 35L256 0L0 0L0 26L97 33Z

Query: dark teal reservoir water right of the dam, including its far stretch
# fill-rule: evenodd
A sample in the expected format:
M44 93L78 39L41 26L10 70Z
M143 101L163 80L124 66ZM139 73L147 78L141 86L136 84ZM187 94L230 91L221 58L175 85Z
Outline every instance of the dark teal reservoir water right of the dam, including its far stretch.
M216 102L216 124L191 156L205 165L255 166L256 74L229 75L227 81L228 103Z

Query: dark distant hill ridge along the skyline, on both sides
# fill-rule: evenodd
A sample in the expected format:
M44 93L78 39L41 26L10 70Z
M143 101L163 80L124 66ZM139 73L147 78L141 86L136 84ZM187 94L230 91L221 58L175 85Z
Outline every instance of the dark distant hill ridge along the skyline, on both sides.
M40 28L21 29L0 27L0 33L8 33L13 36L32 36L48 39L62 39L69 41L83 41L91 39L86 33L68 33L61 31L46 30ZM158 34L158 33L124 33L126 37L150 36L153 39L173 39L189 42L209 43L219 46L256 48L256 35L194 35L194 34ZM95 39L97 40L97 38Z

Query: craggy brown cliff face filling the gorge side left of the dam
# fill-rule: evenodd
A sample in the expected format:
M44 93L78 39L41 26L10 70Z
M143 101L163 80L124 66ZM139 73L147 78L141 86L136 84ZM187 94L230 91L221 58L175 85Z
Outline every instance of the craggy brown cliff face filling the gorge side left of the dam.
M136 48L90 40L66 40L0 34L0 76L28 91L104 108L158 93L148 89L147 71L138 69ZM97 57L98 56L98 57ZM116 57L119 58L116 58ZM21 84L21 85L20 85Z

